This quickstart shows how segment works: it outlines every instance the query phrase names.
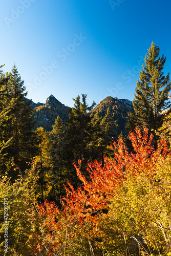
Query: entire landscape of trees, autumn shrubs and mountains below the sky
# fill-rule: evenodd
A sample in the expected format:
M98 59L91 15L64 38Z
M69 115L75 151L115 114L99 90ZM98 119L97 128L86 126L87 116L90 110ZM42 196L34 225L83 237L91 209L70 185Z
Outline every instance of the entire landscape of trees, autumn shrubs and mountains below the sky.
M81 94L73 108L35 104L1 63L0 255L171 255L165 61L152 42L130 106Z

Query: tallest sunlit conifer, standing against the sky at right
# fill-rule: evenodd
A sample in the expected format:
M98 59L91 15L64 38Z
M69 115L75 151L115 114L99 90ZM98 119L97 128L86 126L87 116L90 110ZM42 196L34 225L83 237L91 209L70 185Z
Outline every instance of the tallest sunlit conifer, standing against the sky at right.
M163 112L170 107L169 73L164 76L162 72L166 57L159 57L159 51L159 47L152 42L145 56L145 65L142 64L133 100L135 114L130 114L130 130L139 125L147 126L149 131L157 131L162 125Z

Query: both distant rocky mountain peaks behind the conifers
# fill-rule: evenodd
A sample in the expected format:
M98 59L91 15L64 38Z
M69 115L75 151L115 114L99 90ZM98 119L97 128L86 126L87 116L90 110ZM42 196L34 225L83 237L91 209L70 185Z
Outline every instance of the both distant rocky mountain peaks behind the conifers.
M62 104L53 95L47 98L46 103L34 103L32 101L32 104L37 120L35 129L42 126L46 131L52 130L52 125L55 123L57 116L60 116L62 121L66 121L71 110L71 108ZM119 127L117 133L122 131L124 134L127 134L125 126L128 121L128 113L134 112L132 101L109 96L100 101L91 112L98 112L99 116L104 117L108 108L111 115L115 113L115 120L118 119Z

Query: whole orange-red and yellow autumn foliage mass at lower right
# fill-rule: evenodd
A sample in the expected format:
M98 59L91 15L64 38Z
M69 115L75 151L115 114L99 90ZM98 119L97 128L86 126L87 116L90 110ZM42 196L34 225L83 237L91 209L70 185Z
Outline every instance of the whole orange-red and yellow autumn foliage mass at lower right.
M81 160L75 164L81 184L68 182L63 210L39 206L37 251L41 244L48 255L169 255L170 154L164 141L155 151L152 139L146 128L130 133L134 154L114 142L114 159L88 162L90 180Z

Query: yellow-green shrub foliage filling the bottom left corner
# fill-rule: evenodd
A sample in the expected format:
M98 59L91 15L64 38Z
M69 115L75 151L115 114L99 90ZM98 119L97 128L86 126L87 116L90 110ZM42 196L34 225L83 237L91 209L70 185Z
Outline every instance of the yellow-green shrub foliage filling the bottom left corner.
M25 175L18 176L13 183L7 174L0 177L1 255L30 256L34 254L34 233L39 228L37 226L36 199L38 194L36 191L37 177L35 177L33 168L26 170ZM4 242L7 227L8 250L5 253Z

